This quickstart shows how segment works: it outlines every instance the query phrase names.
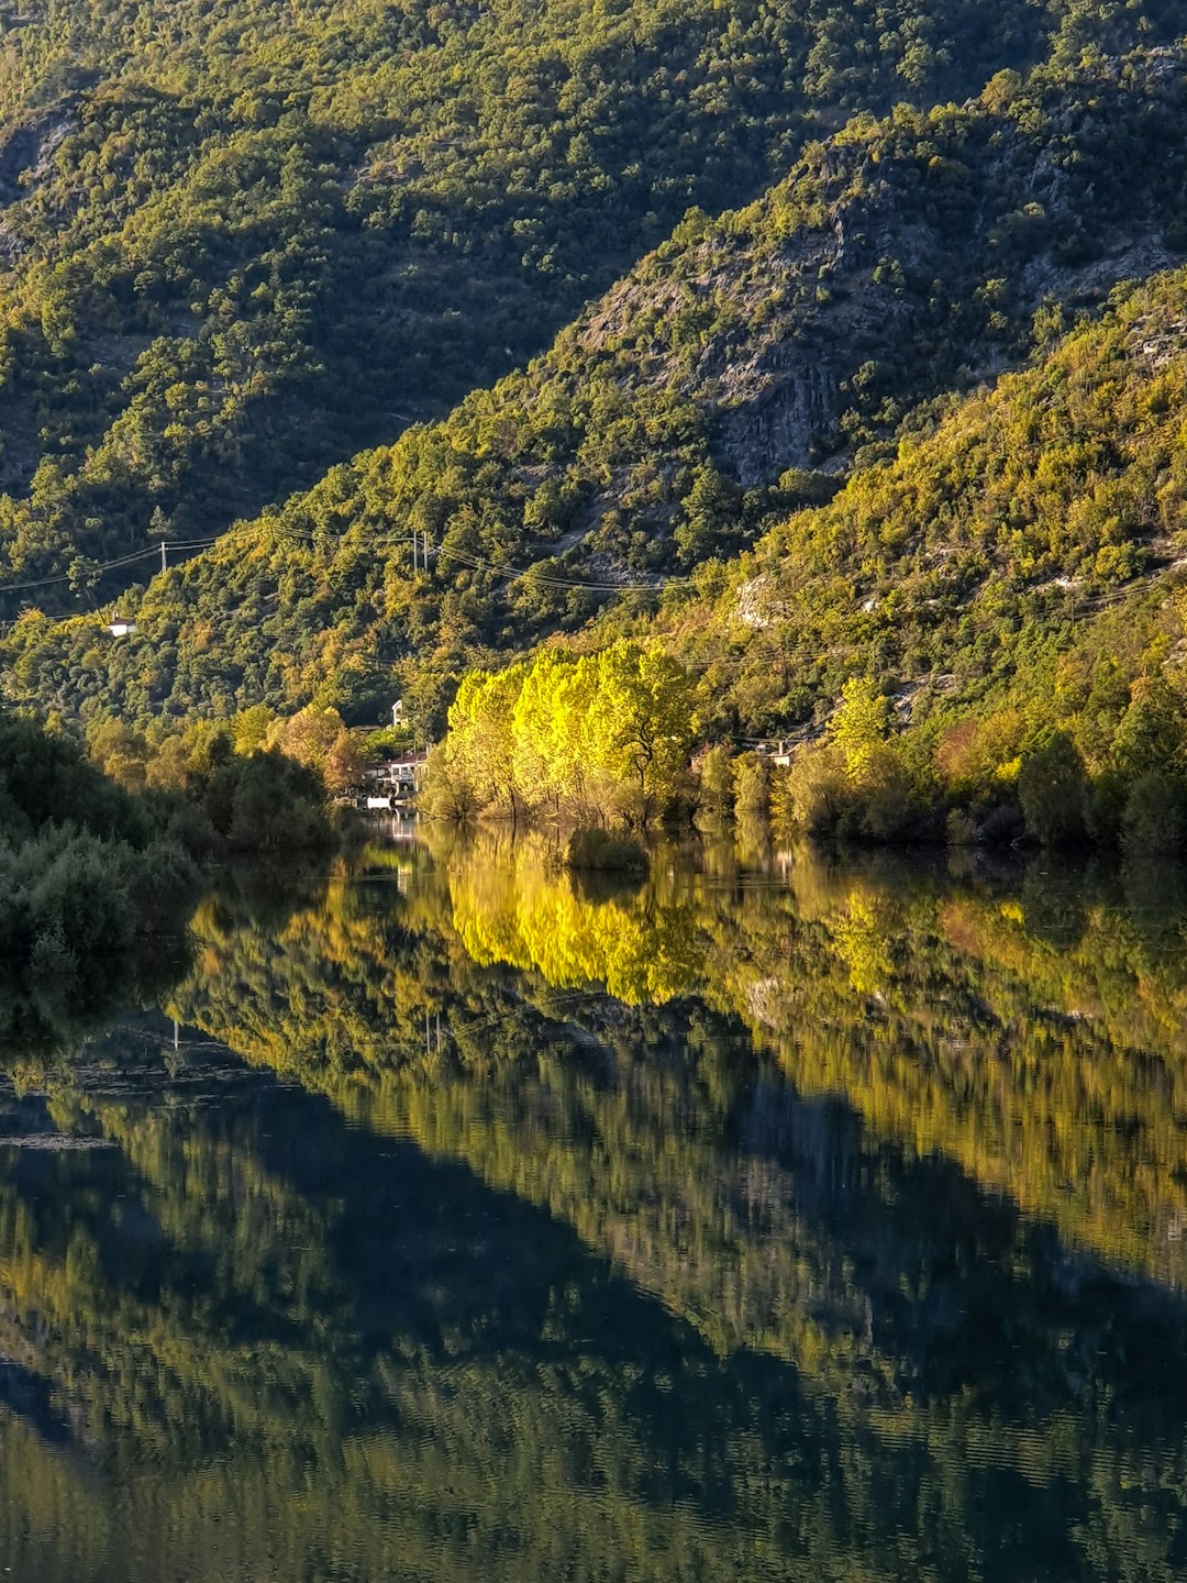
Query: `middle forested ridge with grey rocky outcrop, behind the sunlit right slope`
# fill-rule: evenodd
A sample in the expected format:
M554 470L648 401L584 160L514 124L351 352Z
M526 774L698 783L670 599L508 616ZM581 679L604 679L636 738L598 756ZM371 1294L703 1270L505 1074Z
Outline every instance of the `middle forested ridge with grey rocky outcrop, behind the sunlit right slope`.
M685 222L524 374L154 579L135 640L111 643L98 616L22 617L9 697L84 717L310 698L366 717L404 689L432 728L473 659L576 628L631 586L650 608L681 564L837 486L785 469L877 442L937 385L1018 356L1032 328L1049 342L1068 317L1054 293L1098 296L1165 261L1187 220L1184 112L1182 51L1152 51L1000 79L964 109L858 119L758 206ZM1019 465L1037 461L1024 434ZM757 552L760 573L780 545ZM738 723L810 712L810 687L783 701L794 666L771 671L766 627L714 621L761 640L766 692L736 703ZM745 671L734 636L706 654L725 644ZM817 673L815 651L794 654L796 676Z

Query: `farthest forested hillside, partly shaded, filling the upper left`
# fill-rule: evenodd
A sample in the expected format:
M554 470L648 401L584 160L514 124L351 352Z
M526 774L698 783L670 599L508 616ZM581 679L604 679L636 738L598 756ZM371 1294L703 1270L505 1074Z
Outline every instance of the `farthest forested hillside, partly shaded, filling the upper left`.
M845 114L1174 11L5 0L0 573L81 556L44 597L85 597L489 385Z

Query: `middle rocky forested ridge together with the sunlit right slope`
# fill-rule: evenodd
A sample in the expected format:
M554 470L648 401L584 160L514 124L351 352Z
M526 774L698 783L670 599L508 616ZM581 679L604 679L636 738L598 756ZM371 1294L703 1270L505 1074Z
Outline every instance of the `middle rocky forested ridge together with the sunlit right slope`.
M468 665L605 624L608 605L638 625L663 583L660 630L707 670L720 730L809 720L858 657L950 685L956 644L980 685L1029 621L1054 613L1046 636L1067 646L1068 587L1097 598L1173 559L1176 508L1151 491L1182 421L1182 282L1097 318L1119 277L1182 255L1185 120L1178 47L861 114L753 206L685 218L522 374L155 578L135 638L25 614L9 695L82 719L310 700L369 719L402 692L435 730ZM937 400L1027 348L1033 367L992 394ZM986 494L994 457L1010 488ZM845 537L886 478L870 543ZM891 592L905 570L916 583ZM964 608L978 579L983 616Z

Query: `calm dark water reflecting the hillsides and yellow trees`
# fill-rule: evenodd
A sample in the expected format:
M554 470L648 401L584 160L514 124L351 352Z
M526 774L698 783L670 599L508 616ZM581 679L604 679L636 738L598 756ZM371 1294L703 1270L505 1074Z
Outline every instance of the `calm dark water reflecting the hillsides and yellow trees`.
M1185 923L757 839L228 885L5 1061L3 1575L1187 1577Z

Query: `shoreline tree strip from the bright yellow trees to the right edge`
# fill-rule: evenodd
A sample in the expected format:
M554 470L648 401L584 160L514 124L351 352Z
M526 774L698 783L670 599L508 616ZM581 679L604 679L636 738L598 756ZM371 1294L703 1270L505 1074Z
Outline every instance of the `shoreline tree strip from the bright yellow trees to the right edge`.
M1076 703L1081 703L1076 708ZM1092 708L1084 708L1090 703ZM1187 845L1187 693L1163 646L1127 679L1106 674L1054 698L1007 698L981 714L904 720L853 676L828 722L764 752L723 742L693 754L712 709L658 649L619 641L589 655L544 649L473 673L449 711L421 798L446 818L597 818L639 828L676 817L714 828L769 818L783 834L948 845ZM692 757L690 757L692 755Z

